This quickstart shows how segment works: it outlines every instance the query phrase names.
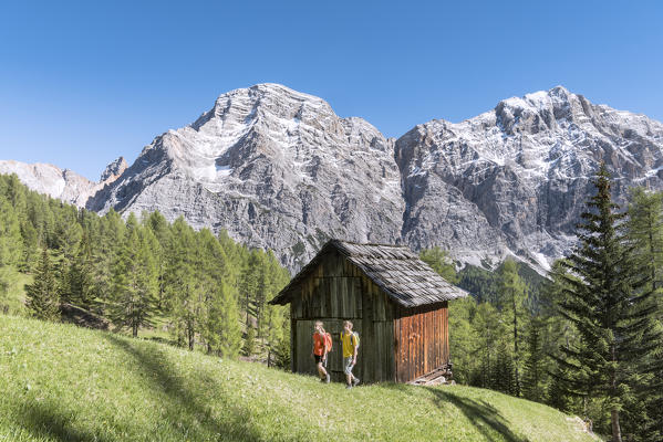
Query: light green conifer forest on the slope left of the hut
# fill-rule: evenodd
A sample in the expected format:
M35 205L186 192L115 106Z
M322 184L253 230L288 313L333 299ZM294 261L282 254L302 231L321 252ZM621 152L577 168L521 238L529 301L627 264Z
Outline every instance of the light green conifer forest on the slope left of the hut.
M268 304L290 280L271 251L159 212L94 212L0 176L0 309L110 325L189 349L288 365L289 322ZM25 307L17 297L25 285ZM96 319L96 320L95 320Z

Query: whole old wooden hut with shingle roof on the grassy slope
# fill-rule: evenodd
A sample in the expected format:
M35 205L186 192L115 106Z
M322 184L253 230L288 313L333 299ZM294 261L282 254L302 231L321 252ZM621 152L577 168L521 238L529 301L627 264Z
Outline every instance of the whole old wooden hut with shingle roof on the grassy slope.
M343 379L340 333L360 335L362 382L410 382L450 369L448 302L467 296L406 246L331 240L271 303L290 304L292 371L315 373L312 334L333 337L328 370Z

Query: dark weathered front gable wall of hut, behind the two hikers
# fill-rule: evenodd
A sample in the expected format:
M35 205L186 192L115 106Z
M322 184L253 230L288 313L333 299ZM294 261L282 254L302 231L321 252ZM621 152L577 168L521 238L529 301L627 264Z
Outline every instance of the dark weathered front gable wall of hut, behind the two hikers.
M361 341L353 372L364 382L395 380L393 307L370 278L340 254L330 253L294 290L290 304L292 371L315 373L312 334L315 320L322 320L334 341L328 369L334 380L342 380L340 334L343 320L350 319Z

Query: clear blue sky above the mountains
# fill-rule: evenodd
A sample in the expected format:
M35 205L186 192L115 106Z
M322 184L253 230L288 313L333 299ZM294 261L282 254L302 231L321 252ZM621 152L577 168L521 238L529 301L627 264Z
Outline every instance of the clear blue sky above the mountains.
M263 82L387 136L558 84L661 120L663 2L0 3L0 159L97 179Z

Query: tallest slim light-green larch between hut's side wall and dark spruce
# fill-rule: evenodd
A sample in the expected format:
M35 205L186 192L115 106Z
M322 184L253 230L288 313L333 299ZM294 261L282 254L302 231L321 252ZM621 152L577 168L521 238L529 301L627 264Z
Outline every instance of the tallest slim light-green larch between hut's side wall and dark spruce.
M518 275L518 264L512 259L507 259L499 272L500 299L504 312L511 325L512 345L514 345L514 378L515 378L515 396L520 396L520 365L521 365L521 344L522 339L522 318L525 316L525 283Z

